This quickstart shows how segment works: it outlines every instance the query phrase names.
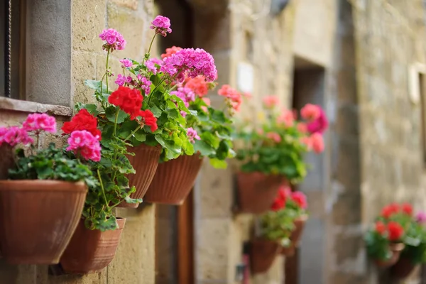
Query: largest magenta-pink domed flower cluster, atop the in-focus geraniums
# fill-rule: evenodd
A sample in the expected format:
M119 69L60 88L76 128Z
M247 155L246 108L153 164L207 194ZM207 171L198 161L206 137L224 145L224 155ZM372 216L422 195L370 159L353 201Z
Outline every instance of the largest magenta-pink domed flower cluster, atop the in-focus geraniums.
M164 58L160 71L178 82L183 82L186 76L195 78L199 75L204 76L208 82L212 82L217 73L213 56L201 48L184 48Z

